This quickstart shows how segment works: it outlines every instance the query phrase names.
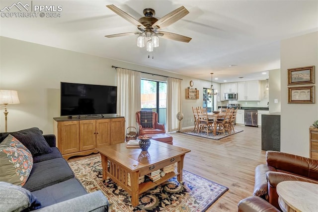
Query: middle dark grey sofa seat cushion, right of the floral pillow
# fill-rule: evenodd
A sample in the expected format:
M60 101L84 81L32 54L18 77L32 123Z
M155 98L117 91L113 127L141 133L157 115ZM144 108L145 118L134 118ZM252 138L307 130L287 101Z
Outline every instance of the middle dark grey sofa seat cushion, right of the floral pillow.
M55 158L33 164L29 179L23 188L33 192L69 180L74 173L64 158Z

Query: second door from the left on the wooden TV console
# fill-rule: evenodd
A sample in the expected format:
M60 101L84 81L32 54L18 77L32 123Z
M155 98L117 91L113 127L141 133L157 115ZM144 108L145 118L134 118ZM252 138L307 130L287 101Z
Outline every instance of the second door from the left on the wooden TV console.
M79 136L80 151L95 149L96 120L79 121L79 126L80 126L80 136Z

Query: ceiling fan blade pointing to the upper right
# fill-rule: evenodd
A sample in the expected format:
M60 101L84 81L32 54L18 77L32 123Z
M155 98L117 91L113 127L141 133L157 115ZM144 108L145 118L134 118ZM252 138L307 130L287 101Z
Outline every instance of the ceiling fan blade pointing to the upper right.
M156 21L152 27L155 30L163 29L172 23L176 22L177 20L180 20L182 17L187 15L189 11L184 7L180 6L179 8L173 10L172 12L169 12L168 14L164 15L162 18L160 18L158 21Z

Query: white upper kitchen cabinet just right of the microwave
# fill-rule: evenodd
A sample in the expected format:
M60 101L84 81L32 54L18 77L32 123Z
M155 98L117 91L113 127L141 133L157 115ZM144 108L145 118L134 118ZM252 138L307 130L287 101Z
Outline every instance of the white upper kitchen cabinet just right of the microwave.
M238 101L260 101L259 80L238 82Z

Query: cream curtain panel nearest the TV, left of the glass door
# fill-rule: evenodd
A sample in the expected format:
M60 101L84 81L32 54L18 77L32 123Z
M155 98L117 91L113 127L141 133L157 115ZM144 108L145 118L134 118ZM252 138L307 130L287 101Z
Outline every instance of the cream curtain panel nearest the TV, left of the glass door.
M117 68L117 114L125 117L125 129L136 126L136 111L141 110L141 73Z

